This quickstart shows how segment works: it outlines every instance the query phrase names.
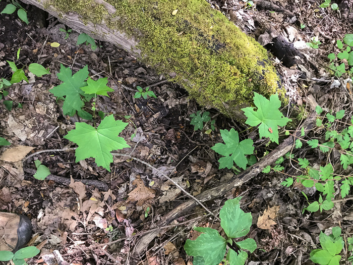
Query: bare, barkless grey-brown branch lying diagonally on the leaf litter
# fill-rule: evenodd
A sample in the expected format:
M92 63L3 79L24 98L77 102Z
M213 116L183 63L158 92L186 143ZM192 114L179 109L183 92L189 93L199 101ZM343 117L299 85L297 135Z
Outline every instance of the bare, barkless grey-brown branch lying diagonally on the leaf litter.
M307 134L310 129L314 127L315 124L315 112L313 112L303 124L305 132ZM296 137L301 137L301 128L298 129L297 133L295 134ZM273 164L280 156L283 156L287 152L289 152L295 141L295 137L290 136L286 140L284 140L280 145L278 145L273 151L271 151L265 158L260 160L258 163L254 164L253 166L249 167L247 170L243 171L237 176L234 176L230 180L225 183L221 183L220 185L204 191L203 193L196 196L196 198L201 201L205 202L208 200L215 199L217 197L221 197L226 194L228 191L233 189L234 187L238 187L243 185L244 183L248 182L250 179L256 177L265 167L268 165ZM195 200L188 200L179 206L175 207L173 210L169 211L166 215L162 217L162 219L156 224L156 227L166 226L172 221L178 219L179 217L183 216L188 211L192 210L197 203ZM143 253L143 251L147 248L148 244L158 235L159 231L152 231L149 234L146 234L140 238L137 242L136 247L134 249L134 254Z

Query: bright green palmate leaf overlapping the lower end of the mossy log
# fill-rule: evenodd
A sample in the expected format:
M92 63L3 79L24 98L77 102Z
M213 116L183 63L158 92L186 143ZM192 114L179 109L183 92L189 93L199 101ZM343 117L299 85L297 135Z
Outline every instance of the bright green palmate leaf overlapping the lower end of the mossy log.
M271 141L278 143L278 126L285 126L290 119L283 117L283 114L278 110L281 107L281 101L278 95L271 95L270 100L256 93L254 96L254 108L248 107L242 109L246 117L246 124L250 126L259 126L260 137L268 137Z

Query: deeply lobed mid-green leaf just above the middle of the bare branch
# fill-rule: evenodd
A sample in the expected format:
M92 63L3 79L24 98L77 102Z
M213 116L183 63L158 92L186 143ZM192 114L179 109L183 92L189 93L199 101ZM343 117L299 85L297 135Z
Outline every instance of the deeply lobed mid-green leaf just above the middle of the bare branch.
M233 162L237 164L238 167L245 169L247 166L246 154L253 154L254 146L252 139L245 139L239 142L239 135L234 128L228 130L220 130L221 136L225 144L216 143L212 150L217 153L224 155L224 157L219 158L219 169L231 169Z

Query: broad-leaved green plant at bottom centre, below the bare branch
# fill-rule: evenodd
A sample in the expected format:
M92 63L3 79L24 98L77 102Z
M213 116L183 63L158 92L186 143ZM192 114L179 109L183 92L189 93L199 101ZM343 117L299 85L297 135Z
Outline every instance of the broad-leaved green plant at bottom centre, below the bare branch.
M251 213L244 213L240 208L242 197L227 200L220 210L219 218L226 238L218 231L208 227L195 227L194 230L202 234L196 240L188 239L184 249L188 255L194 256L194 265L217 265L224 258L226 246L228 250L226 260L230 265L245 264L249 250L251 253L257 245L254 239L247 238L236 242L234 239L246 236L252 224Z

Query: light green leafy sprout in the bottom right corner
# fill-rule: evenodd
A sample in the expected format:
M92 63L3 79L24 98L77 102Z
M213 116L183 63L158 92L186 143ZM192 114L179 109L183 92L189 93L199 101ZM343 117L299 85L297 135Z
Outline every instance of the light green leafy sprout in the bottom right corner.
M332 234L327 236L320 232L319 240L322 249L314 249L310 252L310 259L319 264L339 265L341 259L344 241L342 239L341 229L339 227L332 228Z

